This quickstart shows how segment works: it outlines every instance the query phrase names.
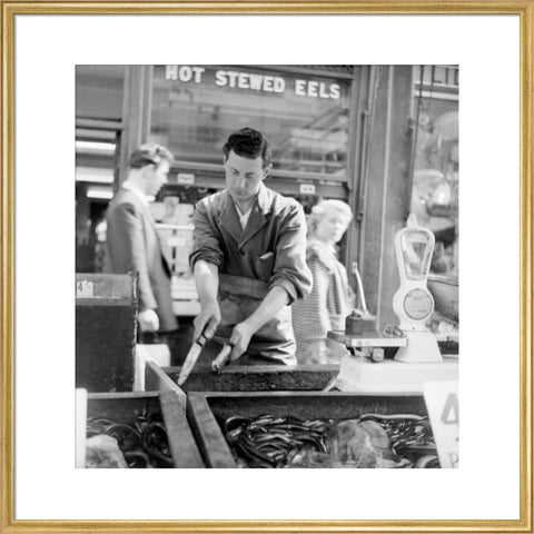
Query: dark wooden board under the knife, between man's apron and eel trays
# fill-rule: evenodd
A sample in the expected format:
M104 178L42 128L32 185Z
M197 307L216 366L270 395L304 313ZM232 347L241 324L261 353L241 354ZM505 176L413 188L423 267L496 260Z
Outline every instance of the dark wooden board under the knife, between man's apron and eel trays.
M161 370L176 384L181 367ZM229 365L220 375L197 366L180 386L188 392L317 392L339 373L338 365Z

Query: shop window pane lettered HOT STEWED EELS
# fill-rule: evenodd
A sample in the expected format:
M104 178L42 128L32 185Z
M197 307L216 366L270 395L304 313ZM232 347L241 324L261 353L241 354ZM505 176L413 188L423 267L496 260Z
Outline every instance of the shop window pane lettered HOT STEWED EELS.
M156 66L150 139L178 161L220 165L228 136L249 126L269 140L275 170L346 177L352 80L330 71Z

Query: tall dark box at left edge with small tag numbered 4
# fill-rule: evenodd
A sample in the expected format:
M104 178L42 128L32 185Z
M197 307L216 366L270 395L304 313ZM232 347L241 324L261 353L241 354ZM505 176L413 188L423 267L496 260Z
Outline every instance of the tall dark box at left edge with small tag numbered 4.
M77 274L76 284L76 386L131 392L137 274Z

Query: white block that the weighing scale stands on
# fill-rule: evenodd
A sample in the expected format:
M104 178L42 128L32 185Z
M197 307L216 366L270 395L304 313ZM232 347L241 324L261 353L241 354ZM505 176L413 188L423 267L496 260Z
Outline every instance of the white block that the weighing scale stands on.
M353 393L423 393L425 382L458 379L457 357L437 363L412 363L345 355L342 358L336 387Z

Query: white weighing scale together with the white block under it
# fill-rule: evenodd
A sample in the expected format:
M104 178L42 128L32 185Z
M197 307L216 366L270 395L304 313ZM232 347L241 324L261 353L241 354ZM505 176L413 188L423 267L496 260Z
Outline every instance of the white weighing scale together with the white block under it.
M434 234L408 217L395 235L395 257L400 286L393 297L398 327L380 334L367 312L363 284L355 269L363 310L353 310L345 332L329 332L328 338L343 343L350 354L343 356L334 387L343 392L422 392L423 383L457 380L457 357L442 357L437 339L426 323L434 312L434 298L426 286ZM398 347L393 359L385 349Z

